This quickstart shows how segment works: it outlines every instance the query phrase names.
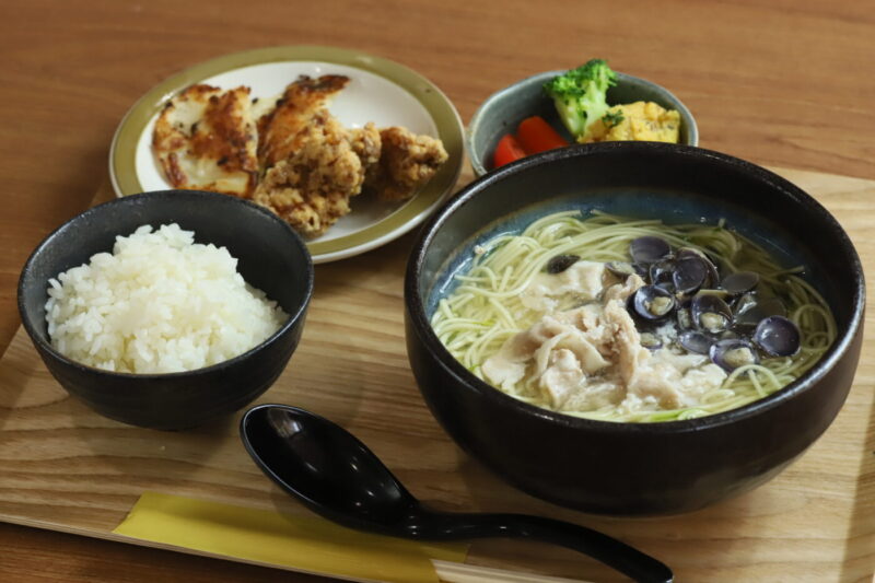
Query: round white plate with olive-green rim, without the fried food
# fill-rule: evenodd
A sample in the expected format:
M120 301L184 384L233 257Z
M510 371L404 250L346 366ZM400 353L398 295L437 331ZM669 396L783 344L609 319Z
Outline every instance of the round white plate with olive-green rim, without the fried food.
M373 121L404 126L440 138L450 160L420 191L405 202L380 202L359 196L352 211L323 236L307 242L314 263L343 259L373 249L421 223L450 195L463 161L463 126L453 104L431 82L396 62L330 47L271 47L228 55L178 73L138 101L116 131L109 151L109 175L117 196L166 190L152 154L155 119L164 103L194 84L252 88L252 96L275 98L301 74L345 74L350 83L330 104L347 127Z

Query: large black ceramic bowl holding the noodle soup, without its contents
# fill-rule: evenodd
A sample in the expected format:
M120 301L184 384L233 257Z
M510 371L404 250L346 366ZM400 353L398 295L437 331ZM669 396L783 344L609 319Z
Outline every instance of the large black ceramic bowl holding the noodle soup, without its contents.
M667 223L724 218L781 263L806 266L838 338L794 383L735 410L618 423L541 409L477 378L429 320L472 246L557 210ZM865 288L848 235L803 190L748 162L687 145L608 142L538 154L463 189L424 226L405 281L410 363L434 416L470 455L520 489L579 510L648 515L700 509L778 475L845 400L863 338Z

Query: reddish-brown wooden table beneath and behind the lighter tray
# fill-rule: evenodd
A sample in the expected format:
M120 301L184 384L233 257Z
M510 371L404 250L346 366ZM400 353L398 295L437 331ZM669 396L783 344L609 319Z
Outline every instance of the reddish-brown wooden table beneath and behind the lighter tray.
M871 7L830 0L21 2L0 24L0 351L19 326L24 259L105 183L121 116L210 57L291 44L365 50L428 77L467 121L497 89L602 56L670 88L704 148L875 178L874 38ZM9 524L0 580L326 581Z

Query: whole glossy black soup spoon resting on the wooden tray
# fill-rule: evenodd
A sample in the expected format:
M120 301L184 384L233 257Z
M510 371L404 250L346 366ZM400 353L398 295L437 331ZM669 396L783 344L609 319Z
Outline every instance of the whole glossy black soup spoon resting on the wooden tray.
M635 581L666 583L672 570L607 535L539 516L433 512L341 427L285 405L259 405L241 420L258 467L313 512L359 530L425 540L534 538L588 555Z

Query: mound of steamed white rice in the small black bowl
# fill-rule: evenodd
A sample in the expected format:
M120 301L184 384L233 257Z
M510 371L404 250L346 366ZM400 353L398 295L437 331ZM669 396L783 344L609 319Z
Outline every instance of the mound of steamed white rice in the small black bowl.
M246 352L288 319L225 247L195 244L177 224L152 231L118 236L112 254L49 280L55 349L108 371L190 371Z

